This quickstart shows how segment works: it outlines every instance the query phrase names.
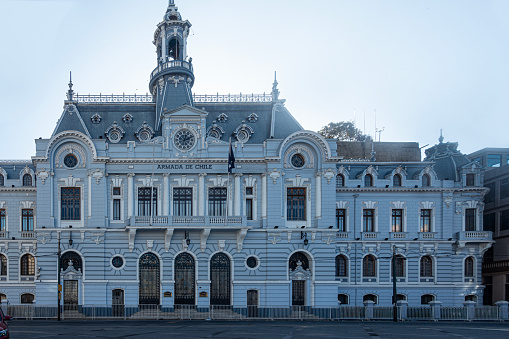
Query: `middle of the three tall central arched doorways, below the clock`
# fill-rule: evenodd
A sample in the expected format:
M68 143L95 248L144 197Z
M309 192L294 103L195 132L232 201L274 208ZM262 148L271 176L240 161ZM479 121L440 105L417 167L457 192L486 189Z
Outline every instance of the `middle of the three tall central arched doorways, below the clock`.
M180 253L175 258L175 305L194 305L195 286L194 258L189 253Z

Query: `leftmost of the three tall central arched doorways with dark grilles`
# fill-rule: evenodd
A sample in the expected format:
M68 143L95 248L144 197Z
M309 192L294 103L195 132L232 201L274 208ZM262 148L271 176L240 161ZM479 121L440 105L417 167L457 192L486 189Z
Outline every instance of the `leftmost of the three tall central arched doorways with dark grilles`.
M154 253L145 253L139 262L139 304L159 305L160 288L159 258Z

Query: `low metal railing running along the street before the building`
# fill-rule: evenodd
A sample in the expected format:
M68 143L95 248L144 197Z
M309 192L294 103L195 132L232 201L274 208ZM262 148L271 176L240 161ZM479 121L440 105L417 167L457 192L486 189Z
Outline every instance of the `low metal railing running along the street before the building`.
M504 307L507 307L504 306ZM54 305L22 304L4 307L6 315L18 319L56 319ZM439 307L398 306L397 319L508 321L507 310L498 306ZM178 320L391 320L392 306L195 306L195 305L61 305L62 319L178 319Z

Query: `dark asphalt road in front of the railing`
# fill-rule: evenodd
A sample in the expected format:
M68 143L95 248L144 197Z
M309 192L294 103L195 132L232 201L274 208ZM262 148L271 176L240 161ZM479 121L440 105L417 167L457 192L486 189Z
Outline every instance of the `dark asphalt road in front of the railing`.
M509 338L509 323L12 320L22 338Z

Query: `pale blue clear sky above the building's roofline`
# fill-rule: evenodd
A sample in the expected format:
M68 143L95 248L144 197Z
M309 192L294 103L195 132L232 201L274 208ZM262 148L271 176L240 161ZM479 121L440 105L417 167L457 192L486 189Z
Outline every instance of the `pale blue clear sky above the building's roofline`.
M144 94L167 0L0 0L0 159L29 159L80 94ZM509 1L176 0L197 94L270 92L317 131L509 147ZM365 117L365 118L364 118ZM365 121L365 123L364 123ZM378 138L377 138L378 140Z

